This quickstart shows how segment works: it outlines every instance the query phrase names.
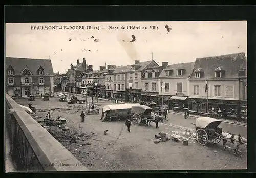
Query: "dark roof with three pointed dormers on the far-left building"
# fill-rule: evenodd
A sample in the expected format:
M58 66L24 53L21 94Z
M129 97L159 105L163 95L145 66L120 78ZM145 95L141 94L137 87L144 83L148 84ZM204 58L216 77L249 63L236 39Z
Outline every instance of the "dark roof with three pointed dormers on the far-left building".
M15 74L22 74L25 68L32 73L32 75L37 74L37 70L41 66L44 69L45 75L54 75L52 62L50 59L29 59L29 58L16 58L16 57L6 57L5 66L6 69L12 66Z

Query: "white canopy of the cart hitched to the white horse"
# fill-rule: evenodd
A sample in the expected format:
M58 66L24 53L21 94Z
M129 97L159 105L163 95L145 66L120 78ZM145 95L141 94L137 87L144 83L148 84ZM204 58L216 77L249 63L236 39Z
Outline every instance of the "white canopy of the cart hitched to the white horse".
M210 117L200 117L196 120L196 127L200 128L216 128L221 124L221 121L218 119Z

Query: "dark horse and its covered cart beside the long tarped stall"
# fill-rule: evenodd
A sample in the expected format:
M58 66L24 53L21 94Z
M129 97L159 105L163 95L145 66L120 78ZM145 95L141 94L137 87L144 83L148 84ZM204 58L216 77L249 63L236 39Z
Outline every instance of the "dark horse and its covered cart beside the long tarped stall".
M153 110L151 107L145 105L138 105L132 107L132 121L134 125L140 125L140 123L148 124L151 121L156 123L158 128L158 122L162 121L162 117L158 115L157 110Z

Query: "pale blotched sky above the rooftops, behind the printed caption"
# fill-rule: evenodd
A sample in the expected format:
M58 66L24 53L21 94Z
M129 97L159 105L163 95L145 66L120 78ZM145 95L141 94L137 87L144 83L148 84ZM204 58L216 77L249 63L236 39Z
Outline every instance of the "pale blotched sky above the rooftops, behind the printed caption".
M170 31L165 27L168 25ZM58 26L58 30L31 26ZM84 29L69 29L80 26ZM99 29L88 29L88 26ZM118 29L109 29L109 27ZM136 26L140 29L121 29ZM154 29L150 29L154 26ZM60 29L62 27L62 29ZM63 28L67 28L64 30ZM146 27L147 29L143 29ZM157 28L156 28L157 27ZM105 29L103 29L105 28ZM132 40L132 35L136 41ZM96 42L95 42L96 39ZM244 52L246 21L163 21L95 23L7 23L6 56L51 59L54 72L65 73L77 59L93 65L131 65L134 60L176 64L196 58ZM90 50L90 51L89 51ZM152 55L153 54L153 55Z

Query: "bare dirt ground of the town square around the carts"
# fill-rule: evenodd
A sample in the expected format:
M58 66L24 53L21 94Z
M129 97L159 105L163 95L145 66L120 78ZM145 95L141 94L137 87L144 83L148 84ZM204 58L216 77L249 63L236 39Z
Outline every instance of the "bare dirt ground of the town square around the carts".
M27 99L16 99L19 104L27 105ZM188 146L181 142L167 141L154 143L158 132L172 133L184 130L171 127L168 124L194 128L190 122L194 118L184 119L182 115L169 114L169 121L159 124L159 129L153 123L151 127L132 125L131 133L127 132L124 122L101 122L98 115L86 115L86 121L80 123L80 112L83 104L59 102L58 98L49 101L36 99L31 102L36 109L45 109L37 115L45 116L50 108L52 117L67 118L69 131L52 128L53 136L59 140L75 157L85 163L90 170L199 170L199 169L246 169L247 151L241 147L240 157L222 149L221 143L201 146L189 138ZM110 101L99 100L99 105L110 104ZM222 124L223 130L241 134L245 128ZM224 128L225 127L225 128ZM107 135L104 131L109 130ZM241 130L241 131L240 131ZM75 141L71 141L73 140ZM69 142L68 142L69 141ZM227 144L232 147L232 145Z

